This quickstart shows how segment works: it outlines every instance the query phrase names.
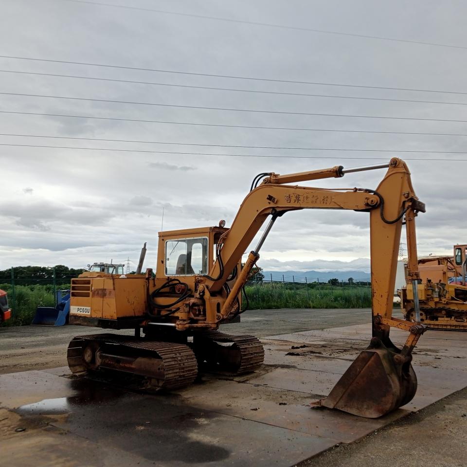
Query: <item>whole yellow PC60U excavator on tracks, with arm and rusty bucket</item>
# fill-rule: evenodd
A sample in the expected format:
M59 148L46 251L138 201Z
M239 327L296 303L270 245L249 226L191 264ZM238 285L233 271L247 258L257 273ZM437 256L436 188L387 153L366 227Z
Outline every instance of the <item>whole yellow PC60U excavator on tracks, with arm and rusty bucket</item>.
M376 190L296 184L380 168L388 170ZM417 387L412 351L426 327L419 320L392 316L393 291L403 223L408 274L417 290L415 217L425 212L425 205L415 196L407 165L397 158L349 170L336 166L288 175L258 174L229 229L220 221L216 227L160 232L155 271L121 276L87 271L72 279L71 324L135 329L134 337L118 333L75 337L68 347L72 373L129 378L147 390L170 390L192 383L198 371L241 374L258 369L264 359L260 341L217 329L242 313L242 288L274 222L302 209L346 209L370 216L373 337L328 397L315 404L375 418L409 402ZM268 218L241 268L242 254ZM408 332L401 349L390 339L392 327Z

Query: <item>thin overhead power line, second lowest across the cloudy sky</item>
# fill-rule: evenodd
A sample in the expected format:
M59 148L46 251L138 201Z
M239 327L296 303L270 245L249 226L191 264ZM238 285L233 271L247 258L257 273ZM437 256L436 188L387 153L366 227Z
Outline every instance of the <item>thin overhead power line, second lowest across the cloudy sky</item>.
M329 147L291 147L291 146L244 146L237 144L199 144L199 143L174 143L167 141L143 141L143 140L116 140L105 138L80 138L76 136L48 136L48 135L28 135L17 133L0 133L0 136L15 136L21 138L52 138L59 140L79 140L79 141L105 141L113 143L142 143L142 144L168 144L177 146L206 146L206 147L234 147L248 149L286 149L301 151L352 151L352 152L404 152L419 154L467 154L467 151L418 151L404 149L349 149L349 148L329 148Z

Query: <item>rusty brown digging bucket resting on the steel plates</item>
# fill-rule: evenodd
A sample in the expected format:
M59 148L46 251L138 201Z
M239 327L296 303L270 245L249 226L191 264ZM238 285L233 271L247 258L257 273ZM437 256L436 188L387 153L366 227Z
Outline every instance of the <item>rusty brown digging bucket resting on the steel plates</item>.
M377 347L370 345L354 360L325 399L311 405L377 418L410 402L417 390L410 357L377 341Z

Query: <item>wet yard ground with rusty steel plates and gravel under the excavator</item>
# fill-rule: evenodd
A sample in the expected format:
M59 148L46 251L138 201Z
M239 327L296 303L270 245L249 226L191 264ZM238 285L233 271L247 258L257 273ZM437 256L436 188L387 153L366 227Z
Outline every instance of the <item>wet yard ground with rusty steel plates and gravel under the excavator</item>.
M1 329L0 372L10 375L0 377L0 405L16 408L0 410L2 462L15 467L466 465L467 334L432 331L422 337L414 355L419 391L392 418L367 423L306 406L310 393L327 394L369 340L365 326L336 326L368 323L369 316L369 310L249 312L243 323L225 330L262 337L264 369L243 378L204 377L163 398L97 383L70 384L58 376L63 368L37 371L63 365L68 341L83 328ZM35 371L24 372L31 368ZM158 425L151 425L155 420ZM341 445L332 448L336 443Z

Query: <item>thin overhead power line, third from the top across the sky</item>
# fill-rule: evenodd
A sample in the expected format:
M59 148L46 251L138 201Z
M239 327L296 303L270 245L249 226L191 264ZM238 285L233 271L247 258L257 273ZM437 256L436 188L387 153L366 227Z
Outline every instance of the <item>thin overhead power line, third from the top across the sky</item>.
M467 106L467 102L425 101L425 100L419 100L419 99L394 99L394 98L385 98L385 97L359 97L359 96L341 96L341 95L330 95L330 94L307 94L307 93L302 93L302 92L279 92L279 91L264 91L264 90L252 90L252 89L217 88L213 86L189 86L189 85L184 85L184 84L155 83L152 81L135 81L135 80L128 80L128 79L97 78L97 77L90 77L90 76L78 76L78 75L57 74L57 73L21 72L21 71L13 71L13 70L0 70L0 72L1 73L32 74L35 76L54 76L58 78L90 79L90 80L95 80L95 81L110 81L110 82L115 82L115 83L167 86L171 88L205 89L205 90L217 90L217 91L229 91L229 92L251 92L251 93L257 93L257 94L275 94L275 95L283 95L283 96L328 97L328 98L333 98L333 99L356 99L356 100L365 100L365 101L414 102L414 103L418 102L421 104L448 104L452 106Z

